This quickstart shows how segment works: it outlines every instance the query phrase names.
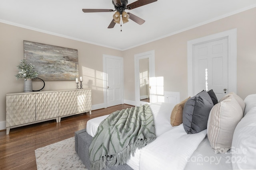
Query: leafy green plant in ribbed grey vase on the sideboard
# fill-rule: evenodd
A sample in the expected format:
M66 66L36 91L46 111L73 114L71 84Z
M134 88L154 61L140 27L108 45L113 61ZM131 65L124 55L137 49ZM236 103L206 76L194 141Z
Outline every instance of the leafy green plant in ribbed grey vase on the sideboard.
M38 76L38 72L34 69L34 65L27 63L25 59L20 61L17 66L18 74L16 74L17 80L19 78L24 78L24 92L32 92L32 79Z

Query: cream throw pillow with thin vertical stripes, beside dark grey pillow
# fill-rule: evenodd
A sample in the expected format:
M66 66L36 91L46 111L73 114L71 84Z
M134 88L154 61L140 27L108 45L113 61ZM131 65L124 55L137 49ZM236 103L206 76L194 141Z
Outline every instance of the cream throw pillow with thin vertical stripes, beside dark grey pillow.
M212 107L207 122L207 135L215 153L225 153L231 148L236 125L242 117L242 108L233 95Z

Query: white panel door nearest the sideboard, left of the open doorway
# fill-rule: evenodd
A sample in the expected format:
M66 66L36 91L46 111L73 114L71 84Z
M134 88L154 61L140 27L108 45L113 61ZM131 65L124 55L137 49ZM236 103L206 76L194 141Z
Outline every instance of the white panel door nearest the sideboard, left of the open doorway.
M122 104L122 61L106 58L107 107Z

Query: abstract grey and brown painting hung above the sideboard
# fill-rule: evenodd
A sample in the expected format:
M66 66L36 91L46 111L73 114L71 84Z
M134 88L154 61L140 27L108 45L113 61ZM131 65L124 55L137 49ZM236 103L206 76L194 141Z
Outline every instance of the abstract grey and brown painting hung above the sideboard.
M23 41L24 59L34 65L43 80L75 80L78 77L78 50Z

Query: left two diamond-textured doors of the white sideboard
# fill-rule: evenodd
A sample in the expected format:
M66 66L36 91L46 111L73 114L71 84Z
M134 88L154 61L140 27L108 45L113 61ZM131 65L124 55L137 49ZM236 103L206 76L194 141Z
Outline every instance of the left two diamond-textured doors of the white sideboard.
M58 117L58 92L6 96L6 127Z

